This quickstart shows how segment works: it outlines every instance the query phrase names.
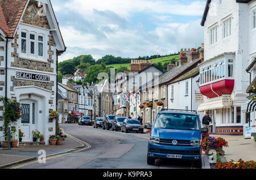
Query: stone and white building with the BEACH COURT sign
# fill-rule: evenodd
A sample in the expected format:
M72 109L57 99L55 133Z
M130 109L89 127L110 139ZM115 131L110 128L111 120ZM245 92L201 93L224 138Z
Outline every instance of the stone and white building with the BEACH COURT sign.
M48 114L57 110L56 64L65 49L51 1L0 0L0 95L22 104L16 129L24 132L24 142L32 142L35 129L46 144L55 134Z

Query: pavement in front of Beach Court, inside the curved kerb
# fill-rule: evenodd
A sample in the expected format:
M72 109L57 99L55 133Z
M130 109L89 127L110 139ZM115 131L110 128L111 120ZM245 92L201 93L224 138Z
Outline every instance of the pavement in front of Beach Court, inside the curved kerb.
M46 157L48 157L72 152L82 147L84 147L84 144L68 136L62 145L22 145L18 148L11 148L11 150L0 148L0 169L36 160L42 155L39 152L40 149L43 149L46 152Z

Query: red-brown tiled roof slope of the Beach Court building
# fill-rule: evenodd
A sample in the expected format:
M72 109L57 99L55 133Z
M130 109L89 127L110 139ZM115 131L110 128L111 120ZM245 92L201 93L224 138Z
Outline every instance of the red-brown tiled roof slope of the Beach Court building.
M27 2L28 0L0 0L0 8L2 8L0 28L8 37L14 37ZM5 23L2 22L3 20Z

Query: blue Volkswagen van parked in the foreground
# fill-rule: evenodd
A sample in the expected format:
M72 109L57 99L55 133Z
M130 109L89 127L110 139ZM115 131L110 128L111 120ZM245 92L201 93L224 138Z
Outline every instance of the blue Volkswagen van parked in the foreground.
M201 128L196 111L162 109L152 125L148 142L147 164L155 164L157 158L192 160L201 168Z

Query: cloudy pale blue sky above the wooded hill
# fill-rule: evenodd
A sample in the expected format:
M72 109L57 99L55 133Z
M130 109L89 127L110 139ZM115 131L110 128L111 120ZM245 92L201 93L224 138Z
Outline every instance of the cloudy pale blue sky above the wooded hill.
M197 48L206 0L52 0L67 51L59 61L90 54L138 58Z

